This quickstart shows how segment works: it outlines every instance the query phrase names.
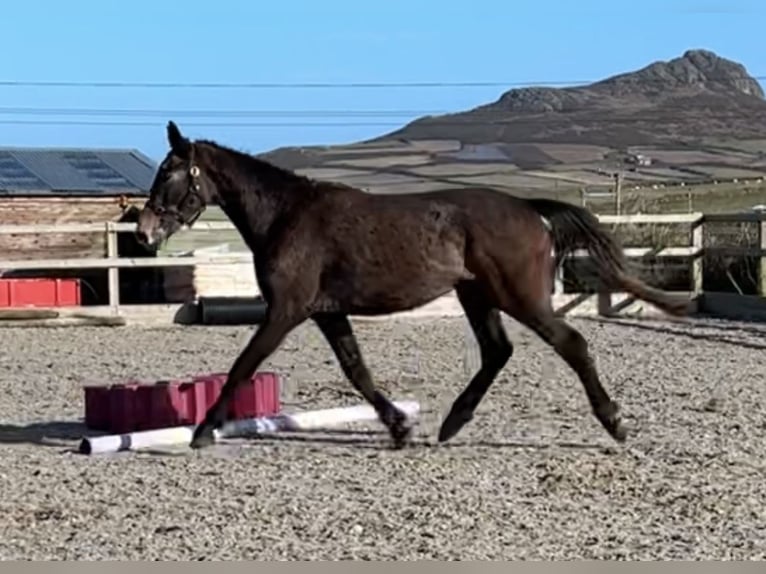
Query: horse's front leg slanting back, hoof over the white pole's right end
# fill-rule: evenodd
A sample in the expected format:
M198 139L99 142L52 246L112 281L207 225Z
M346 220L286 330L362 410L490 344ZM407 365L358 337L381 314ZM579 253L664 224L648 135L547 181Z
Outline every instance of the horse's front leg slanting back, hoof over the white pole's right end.
M340 314L322 313L315 315L313 320L338 358L346 378L372 405L381 422L388 428L394 446L403 447L412 432L407 415L375 388L348 318Z

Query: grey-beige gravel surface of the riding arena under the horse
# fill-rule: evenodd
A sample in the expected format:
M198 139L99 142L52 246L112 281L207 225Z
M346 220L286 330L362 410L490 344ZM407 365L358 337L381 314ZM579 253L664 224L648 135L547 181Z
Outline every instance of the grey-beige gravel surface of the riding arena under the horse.
M466 340L475 349L458 318L357 326L380 387L421 401L403 451L372 425L88 457L72 450L83 384L225 370L250 330L0 329L0 558L766 557L766 327L571 322L623 406L624 446L564 363L510 321L514 357L437 446L467 382ZM285 377L289 408L360 402L313 326L264 368Z

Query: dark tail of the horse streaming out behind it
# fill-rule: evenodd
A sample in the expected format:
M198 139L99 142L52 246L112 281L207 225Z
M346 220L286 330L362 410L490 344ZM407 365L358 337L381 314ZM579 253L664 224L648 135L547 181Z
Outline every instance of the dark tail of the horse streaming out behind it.
M596 264L599 279L608 287L621 287L670 315L690 311L690 301L650 287L626 270L622 247L598 218L584 207L552 199L529 199L529 205L550 223L556 266L577 249L586 249Z

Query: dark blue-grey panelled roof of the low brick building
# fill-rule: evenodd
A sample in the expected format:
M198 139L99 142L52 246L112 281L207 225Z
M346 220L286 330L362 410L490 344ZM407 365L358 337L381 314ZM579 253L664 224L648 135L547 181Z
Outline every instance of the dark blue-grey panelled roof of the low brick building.
M156 171L138 150L0 147L2 195L147 195Z

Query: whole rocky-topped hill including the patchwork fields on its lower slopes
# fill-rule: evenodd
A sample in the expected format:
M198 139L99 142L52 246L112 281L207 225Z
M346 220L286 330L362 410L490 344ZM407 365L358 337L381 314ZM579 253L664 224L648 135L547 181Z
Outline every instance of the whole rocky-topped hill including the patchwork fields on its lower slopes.
M509 90L345 146L262 157L380 192L481 184L536 194L762 178L766 100L745 67L706 50L589 85Z

